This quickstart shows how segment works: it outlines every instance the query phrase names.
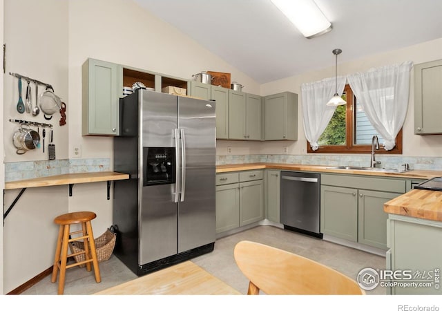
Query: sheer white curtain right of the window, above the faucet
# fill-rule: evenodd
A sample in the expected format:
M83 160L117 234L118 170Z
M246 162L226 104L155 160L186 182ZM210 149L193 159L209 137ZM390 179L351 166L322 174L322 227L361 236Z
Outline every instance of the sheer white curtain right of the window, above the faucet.
M349 85L374 129L392 150L407 114L412 62L348 75Z

